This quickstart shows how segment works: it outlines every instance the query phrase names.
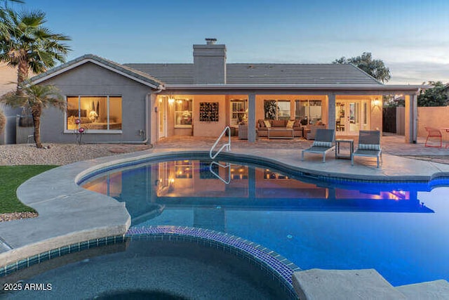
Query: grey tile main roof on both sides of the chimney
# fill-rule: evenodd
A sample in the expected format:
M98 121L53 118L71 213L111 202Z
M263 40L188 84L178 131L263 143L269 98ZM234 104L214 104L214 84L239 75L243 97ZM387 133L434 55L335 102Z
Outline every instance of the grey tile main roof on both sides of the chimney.
M166 84L194 84L192 63L126 63ZM364 84L382 86L349 64L228 63L227 84Z

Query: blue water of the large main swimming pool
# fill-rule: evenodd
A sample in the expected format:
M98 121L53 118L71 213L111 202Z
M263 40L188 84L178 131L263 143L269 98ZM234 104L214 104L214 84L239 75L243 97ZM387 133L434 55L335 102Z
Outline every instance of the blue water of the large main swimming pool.
M448 180L434 187L436 181L325 181L210 163L151 162L82 186L126 202L133 227L217 230L262 244L302 269L375 268L394 286L449 280Z

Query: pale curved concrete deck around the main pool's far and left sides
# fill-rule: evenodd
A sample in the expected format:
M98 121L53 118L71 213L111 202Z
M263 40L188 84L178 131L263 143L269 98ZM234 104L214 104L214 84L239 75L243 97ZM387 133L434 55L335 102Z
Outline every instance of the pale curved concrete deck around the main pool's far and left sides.
M232 155L248 155L278 162L289 169L321 176L340 176L376 181L430 180L449 176L449 164L429 160L410 159L408 156L449 155L449 149L424 148L422 141L406 144L400 139L387 143L382 138L382 164L375 167L375 159L357 157L354 166L347 159L335 159L333 152L321 163L320 155L306 155L300 159L301 149L311 141L267 141L254 144L232 141ZM38 211L39 216L0 223L0 261L6 266L20 259L42 252L95 238L123 235L130 226L130 216L123 203L84 190L76 185L79 174L145 157L158 157L167 152L208 151L213 138L177 137L156 143L151 150L101 157L62 166L39 174L18 189L18 197ZM49 184L50 183L50 184ZM99 213L101 211L101 213ZM0 267L1 267L0 266Z

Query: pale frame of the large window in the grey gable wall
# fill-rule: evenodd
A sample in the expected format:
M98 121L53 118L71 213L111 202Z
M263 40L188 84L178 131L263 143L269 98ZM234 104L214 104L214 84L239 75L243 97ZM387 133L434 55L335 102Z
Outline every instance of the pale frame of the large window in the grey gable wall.
M109 127L109 113L110 113L110 102L109 102L109 97L116 97L116 98L121 98L121 129L85 129L85 131L83 132L83 134L95 134L95 133L102 133L102 134L118 134L118 133L123 133L123 96L121 95L115 95L115 94L111 94L111 95L92 95L92 94L88 94L88 95L65 95L65 103L68 104L69 98L76 98L78 97L78 116L80 115L81 112L81 108L80 108L80 103L81 103L81 98L83 97L98 97L98 98L106 98L106 103L107 103L107 126ZM64 112L64 133L68 133L68 134L78 134L78 129L67 129L67 110L65 110ZM82 124L79 127L83 127Z

